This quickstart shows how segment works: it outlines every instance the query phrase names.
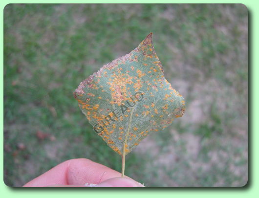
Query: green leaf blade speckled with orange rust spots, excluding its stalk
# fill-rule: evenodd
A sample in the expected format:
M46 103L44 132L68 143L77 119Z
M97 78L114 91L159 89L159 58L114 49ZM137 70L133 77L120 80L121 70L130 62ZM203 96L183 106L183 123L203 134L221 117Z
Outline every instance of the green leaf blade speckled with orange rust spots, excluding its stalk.
M80 83L74 96L94 131L120 155L185 110L183 97L164 77L152 33Z

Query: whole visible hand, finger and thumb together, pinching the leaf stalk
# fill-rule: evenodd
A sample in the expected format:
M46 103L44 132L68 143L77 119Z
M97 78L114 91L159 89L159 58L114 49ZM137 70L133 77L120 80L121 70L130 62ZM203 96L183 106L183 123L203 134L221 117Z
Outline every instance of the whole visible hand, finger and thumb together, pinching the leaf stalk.
M23 187L144 187L142 184L102 164L86 158L70 159Z

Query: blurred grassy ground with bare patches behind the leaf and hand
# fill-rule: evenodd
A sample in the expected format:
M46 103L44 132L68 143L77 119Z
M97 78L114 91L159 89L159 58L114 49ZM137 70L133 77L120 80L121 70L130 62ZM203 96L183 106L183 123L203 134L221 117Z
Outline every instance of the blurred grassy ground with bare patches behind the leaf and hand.
M121 171L73 91L153 32L186 111L127 155L125 174L146 186L245 185L247 14L242 4L6 5L4 182L22 186L79 157Z

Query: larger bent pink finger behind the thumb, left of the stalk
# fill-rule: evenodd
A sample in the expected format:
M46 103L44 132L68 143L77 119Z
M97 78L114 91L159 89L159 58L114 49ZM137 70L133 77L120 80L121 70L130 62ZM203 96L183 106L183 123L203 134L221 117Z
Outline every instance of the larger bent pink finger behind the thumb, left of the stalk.
M53 186L53 185L85 185L99 184L121 174L102 164L86 158L67 160L50 169L41 176L36 177L24 186ZM125 176L127 177L127 176ZM127 177L129 178L129 177ZM131 179L131 178L129 178Z

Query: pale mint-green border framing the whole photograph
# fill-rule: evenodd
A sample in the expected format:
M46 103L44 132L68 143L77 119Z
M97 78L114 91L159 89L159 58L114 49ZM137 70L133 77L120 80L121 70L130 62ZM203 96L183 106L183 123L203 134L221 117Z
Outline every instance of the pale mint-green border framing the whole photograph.
M248 9L248 20L249 20L249 30L248 30L248 77L249 77L249 95L248 95L248 114L249 114L249 175L248 183L244 187L232 187L232 188L146 188L146 189L128 189L130 194L125 191L128 191L126 188L121 189L97 189L97 188L14 188L8 187L3 182L3 171L0 172L1 184L0 184L0 194L4 198L19 196L19 198L45 198L46 196L62 196L63 198L69 198L71 196L105 196L108 197L156 197L156 196L179 196L181 198L185 197L199 197L199 198L218 198L219 196L235 196L235 198L246 197L255 197L259 195L259 171L255 167L259 167L259 156L255 154L255 150L259 151L259 145L256 144L256 141L259 139L259 133L256 129L259 129L259 122L255 122L256 119L259 119L259 114L256 112L259 111L259 104L255 101L259 101L259 93L256 92L256 85L259 85L259 78L256 78L259 75L259 26L256 26L256 22L259 21L259 1L258 0L74 0L74 1L61 1L61 0L1 0L0 1L0 25L1 29L3 28L3 9L5 5L9 3L242 3ZM0 32L1 37L1 48L0 48L0 59L2 68L0 69L0 75L3 76L3 30ZM257 47L257 48L256 48ZM1 84L1 105L0 110L1 114L1 131L3 132L3 79L0 81ZM251 108L252 105L252 108ZM1 148L3 148L3 135L0 137ZM3 149L0 151L0 155L3 159ZM257 156L257 157L256 157ZM0 163L0 169L3 170L3 161ZM87 191L87 192L85 192ZM76 195L74 193L76 192ZM162 194L162 195L160 195Z

